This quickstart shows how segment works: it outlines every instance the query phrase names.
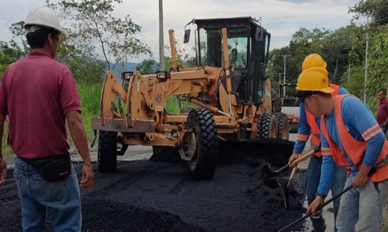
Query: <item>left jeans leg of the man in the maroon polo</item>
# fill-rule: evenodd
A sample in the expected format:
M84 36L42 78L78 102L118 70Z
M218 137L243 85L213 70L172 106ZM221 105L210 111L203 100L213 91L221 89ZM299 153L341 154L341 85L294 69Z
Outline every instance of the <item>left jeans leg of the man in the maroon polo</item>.
M15 159L14 178L19 194L23 232L45 230L46 206L36 201L36 186L31 176L32 167Z

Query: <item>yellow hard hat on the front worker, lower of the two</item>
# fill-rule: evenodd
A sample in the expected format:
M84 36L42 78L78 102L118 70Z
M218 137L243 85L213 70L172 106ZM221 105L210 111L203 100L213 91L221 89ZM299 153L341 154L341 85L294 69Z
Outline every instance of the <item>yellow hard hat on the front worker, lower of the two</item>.
M323 67L312 67L300 73L296 89L299 91L319 91L332 93L334 89L329 87L327 70Z

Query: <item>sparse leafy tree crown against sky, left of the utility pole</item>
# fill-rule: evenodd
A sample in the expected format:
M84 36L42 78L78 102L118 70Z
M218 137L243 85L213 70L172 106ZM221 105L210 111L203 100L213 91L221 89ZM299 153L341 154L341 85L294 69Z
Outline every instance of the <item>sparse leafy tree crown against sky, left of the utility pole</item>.
M74 41L98 64L103 60L109 70L140 54L152 55L146 44L134 37L141 27L129 15L118 18L111 14L113 2L122 0L62 0L56 6L71 20L67 31Z

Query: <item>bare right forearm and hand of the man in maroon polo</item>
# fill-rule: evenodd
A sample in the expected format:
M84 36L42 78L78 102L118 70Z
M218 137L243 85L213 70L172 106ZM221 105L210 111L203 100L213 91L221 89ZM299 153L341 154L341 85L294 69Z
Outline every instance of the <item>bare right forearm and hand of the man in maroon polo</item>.
M81 187L91 190L93 188L93 167L92 160L90 159L85 126L83 125L82 118L78 111L70 111L67 113L66 120L69 126L71 138L73 139L83 161Z

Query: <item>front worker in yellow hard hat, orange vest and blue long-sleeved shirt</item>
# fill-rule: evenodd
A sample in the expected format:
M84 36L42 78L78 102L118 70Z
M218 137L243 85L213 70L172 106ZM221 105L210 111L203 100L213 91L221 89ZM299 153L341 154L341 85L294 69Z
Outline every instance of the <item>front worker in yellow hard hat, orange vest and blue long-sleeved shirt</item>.
M331 95L327 71L302 72L296 87L307 110L321 117L322 169L315 200L307 213L317 214L337 166L351 167L336 220L339 232L379 232L388 187L388 142L368 106L351 95ZM371 172L373 170L373 172Z

